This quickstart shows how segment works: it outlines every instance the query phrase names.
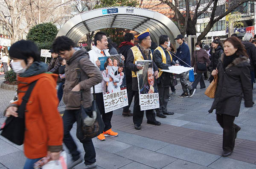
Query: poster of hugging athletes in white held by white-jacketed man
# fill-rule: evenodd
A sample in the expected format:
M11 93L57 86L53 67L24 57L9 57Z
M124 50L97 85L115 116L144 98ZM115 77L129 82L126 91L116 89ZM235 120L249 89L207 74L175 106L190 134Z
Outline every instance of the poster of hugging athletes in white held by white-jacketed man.
M110 112L128 105L124 62L121 55L99 57L102 71L102 92L105 112Z

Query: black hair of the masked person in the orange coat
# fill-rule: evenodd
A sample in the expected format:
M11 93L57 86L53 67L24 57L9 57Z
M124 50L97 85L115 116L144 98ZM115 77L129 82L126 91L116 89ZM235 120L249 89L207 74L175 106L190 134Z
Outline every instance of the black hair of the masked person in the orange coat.
M19 40L12 44L9 49L9 56L11 59L22 59L28 64L27 59L32 57L34 62L40 62L40 53L37 45L30 40Z

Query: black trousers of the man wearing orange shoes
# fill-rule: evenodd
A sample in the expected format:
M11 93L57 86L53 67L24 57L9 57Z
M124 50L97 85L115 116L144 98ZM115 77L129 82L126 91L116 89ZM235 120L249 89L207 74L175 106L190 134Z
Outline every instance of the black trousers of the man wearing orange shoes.
M107 131L111 129L111 118L113 115L113 111L105 113L105 107L103 102L103 94L102 93L96 93L96 103L99 108L99 112L102 115L102 120L105 124L104 131Z

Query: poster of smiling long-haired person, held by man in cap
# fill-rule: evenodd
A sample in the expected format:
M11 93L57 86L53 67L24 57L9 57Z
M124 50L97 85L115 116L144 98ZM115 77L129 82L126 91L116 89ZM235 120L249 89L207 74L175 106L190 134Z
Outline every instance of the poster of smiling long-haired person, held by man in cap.
M157 81L154 77L152 61L137 61L136 64L143 66L143 69L137 72L140 94L140 110L159 108Z

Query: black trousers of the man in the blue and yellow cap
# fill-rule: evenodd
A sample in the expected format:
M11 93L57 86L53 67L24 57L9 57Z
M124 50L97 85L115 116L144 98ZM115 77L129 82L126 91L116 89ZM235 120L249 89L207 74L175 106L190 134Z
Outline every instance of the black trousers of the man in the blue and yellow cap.
M133 122L134 124L141 125L143 116L144 116L144 110L140 111L140 98L139 98L139 92L134 91L134 111L133 111ZM151 110L146 110L146 117L148 121L156 121L156 115L153 111Z

